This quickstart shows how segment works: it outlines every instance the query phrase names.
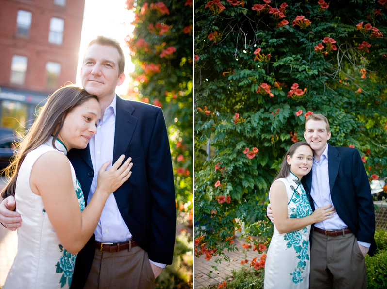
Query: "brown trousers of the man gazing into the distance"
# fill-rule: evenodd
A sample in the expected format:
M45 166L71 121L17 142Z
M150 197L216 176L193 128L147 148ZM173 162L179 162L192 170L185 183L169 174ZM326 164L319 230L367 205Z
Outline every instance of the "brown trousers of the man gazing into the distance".
M140 246L120 252L96 249L84 289L153 289L155 275Z

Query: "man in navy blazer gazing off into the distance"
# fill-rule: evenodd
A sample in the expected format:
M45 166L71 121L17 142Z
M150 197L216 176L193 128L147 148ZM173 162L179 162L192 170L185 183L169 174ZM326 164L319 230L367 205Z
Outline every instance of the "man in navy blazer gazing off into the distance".
M115 94L125 80L124 54L118 41L98 36L86 50L83 88L98 96L97 134L68 158L85 202L97 186L101 164L124 154L132 175L109 198L97 228L78 253L71 289L153 288L155 278L172 263L176 208L171 153L159 107L123 100ZM96 137L97 136L97 137ZM0 220L11 230L21 226L13 197L0 205Z

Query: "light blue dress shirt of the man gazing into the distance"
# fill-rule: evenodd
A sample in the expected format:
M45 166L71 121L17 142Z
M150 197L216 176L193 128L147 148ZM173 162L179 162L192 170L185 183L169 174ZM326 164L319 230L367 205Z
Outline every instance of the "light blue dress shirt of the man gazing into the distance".
M90 199L97 188L98 171L102 164L110 160L111 163L108 166L108 169L112 166L116 104L117 96L115 95L111 104L105 109L103 119L101 119L97 125L97 133L89 142L94 176L87 202L90 202ZM94 234L96 236L96 241L104 243L122 242L133 237L121 216L113 193L109 195L106 201ZM165 264L151 262L161 268L166 266Z

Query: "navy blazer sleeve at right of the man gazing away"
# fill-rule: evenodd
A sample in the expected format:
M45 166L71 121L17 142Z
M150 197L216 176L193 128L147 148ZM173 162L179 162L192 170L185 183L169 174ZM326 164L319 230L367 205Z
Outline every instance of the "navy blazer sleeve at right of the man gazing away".
M147 177L152 196L149 259L171 264L176 234L175 185L168 134L161 109L156 116L150 140Z

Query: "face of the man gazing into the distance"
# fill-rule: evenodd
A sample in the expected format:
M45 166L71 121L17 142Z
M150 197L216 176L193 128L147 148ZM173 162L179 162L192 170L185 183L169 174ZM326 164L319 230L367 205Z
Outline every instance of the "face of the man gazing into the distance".
M113 46L92 44L87 48L81 68L83 88L99 99L113 96L117 85L125 80L118 73L119 53Z

